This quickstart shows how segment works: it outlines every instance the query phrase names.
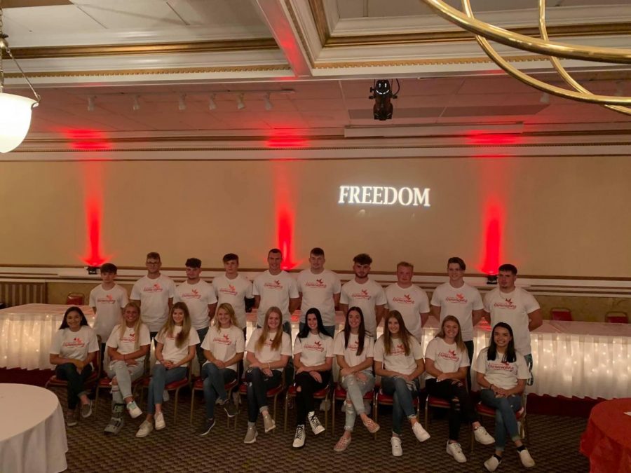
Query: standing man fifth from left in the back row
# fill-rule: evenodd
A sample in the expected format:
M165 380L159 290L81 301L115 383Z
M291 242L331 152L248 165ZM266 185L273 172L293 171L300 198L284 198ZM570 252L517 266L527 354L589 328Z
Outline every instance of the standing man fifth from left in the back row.
M263 327L265 313L270 307L278 307L283 312L283 331L292 335L290 323L292 313L298 308L300 295L296 280L280 268L283 253L272 248L267 254L269 268L255 277L252 294L255 296L257 310L257 326Z

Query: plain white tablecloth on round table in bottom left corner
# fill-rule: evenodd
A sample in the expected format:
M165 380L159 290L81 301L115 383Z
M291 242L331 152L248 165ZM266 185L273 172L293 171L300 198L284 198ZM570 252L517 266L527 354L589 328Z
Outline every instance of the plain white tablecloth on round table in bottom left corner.
M0 384L0 472L62 472L67 451L57 396L37 386Z

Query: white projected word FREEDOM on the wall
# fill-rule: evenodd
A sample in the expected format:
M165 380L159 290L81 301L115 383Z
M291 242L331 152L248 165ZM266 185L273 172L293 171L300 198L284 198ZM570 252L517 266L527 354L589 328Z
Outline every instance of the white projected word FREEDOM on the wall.
M339 204L404 205L430 207L429 188L339 186Z

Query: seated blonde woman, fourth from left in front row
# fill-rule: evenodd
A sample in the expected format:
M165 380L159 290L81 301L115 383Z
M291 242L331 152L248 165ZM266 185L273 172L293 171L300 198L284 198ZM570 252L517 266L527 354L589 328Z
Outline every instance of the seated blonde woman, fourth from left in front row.
M206 416L198 435L207 435L215 427L215 402L224 408L228 417L237 415L235 404L229 401L225 385L236 380L238 362L243 359L245 338L239 328L234 309L224 302L217 308L215 321L201 345L206 362L202 366Z

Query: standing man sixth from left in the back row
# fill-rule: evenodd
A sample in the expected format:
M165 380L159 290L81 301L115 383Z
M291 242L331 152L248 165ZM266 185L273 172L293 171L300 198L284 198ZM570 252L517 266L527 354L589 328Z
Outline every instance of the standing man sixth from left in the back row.
M309 253L310 268L298 275L298 292L301 297L300 329L304 327L304 315L310 308L317 308L322 315L325 330L335 336L335 308L339 305L341 284L339 276L324 267L324 250L313 248Z

